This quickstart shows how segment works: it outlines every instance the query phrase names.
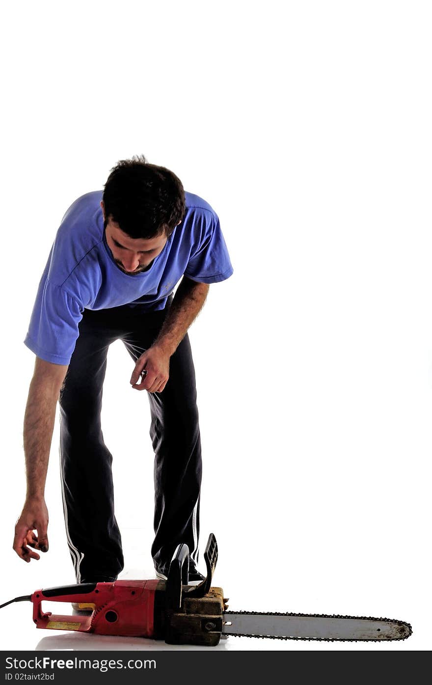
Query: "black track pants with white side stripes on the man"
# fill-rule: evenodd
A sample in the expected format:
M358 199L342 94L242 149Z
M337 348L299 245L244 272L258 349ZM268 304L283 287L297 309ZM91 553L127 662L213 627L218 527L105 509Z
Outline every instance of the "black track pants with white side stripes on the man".
M123 340L131 357L138 359L157 337L167 310L146 313L128 306L84 310L79 324L79 338L60 394L64 519L77 582L112 580L123 569L114 516L112 455L101 430L108 347L114 340ZM188 545L194 560L198 550L201 442L188 336L170 358L170 377L163 392L136 393L137 401L144 393L150 401L155 452L151 555L157 569L166 572L179 543ZM121 410L119 407L119 416ZM124 477L127 479L127 473Z

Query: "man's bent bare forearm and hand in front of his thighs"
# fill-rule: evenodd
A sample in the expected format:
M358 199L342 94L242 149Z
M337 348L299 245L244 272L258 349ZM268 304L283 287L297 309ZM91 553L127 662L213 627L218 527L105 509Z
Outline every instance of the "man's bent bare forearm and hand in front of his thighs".
M153 345L136 361L131 375L132 388L148 390L149 393L162 393L168 382L170 357L203 307L208 290L207 283L197 283L183 276L160 334ZM146 373L141 382L138 382L143 371Z

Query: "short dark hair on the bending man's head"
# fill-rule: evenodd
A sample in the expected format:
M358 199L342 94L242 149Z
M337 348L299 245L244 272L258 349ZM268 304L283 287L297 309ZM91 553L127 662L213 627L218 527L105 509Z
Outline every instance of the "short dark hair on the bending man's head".
M180 179L164 166L149 164L144 155L113 166L102 199L105 225L111 217L130 238L170 236L185 212Z

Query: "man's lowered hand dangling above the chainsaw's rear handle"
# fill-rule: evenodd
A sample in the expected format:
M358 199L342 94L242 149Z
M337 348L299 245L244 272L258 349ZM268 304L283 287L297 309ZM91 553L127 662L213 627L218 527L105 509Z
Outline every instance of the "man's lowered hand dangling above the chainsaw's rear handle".
M15 525L14 550L21 559L29 562L40 559L38 553L29 549L48 551L48 510L45 499L26 500L23 511ZM36 535L35 535L36 531Z

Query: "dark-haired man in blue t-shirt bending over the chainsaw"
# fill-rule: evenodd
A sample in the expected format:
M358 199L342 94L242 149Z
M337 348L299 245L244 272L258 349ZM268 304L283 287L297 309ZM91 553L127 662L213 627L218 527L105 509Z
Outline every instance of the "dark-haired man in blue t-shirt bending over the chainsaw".
M111 582L123 569L112 455L101 432L107 350L120 339L135 362L130 383L147 390L151 407L156 575L166 577L175 548L186 543L190 580L203 578L196 569L201 443L187 330L209 284L231 273L212 208L142 156L118 162L103 193L89 192L67 210L25 338L36 362L24 420L27 496L14 538L23 560L48 550L44 490L60 401L64 519L77 582Z

